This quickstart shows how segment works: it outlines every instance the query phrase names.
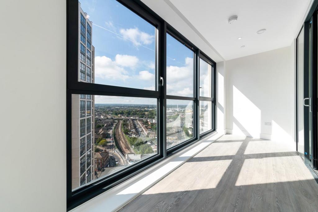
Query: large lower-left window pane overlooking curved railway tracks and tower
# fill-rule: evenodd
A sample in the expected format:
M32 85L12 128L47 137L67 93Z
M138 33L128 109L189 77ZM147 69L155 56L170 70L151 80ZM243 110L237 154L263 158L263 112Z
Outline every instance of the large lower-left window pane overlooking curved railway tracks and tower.
M157 99L72 95L73 190L156 154Z

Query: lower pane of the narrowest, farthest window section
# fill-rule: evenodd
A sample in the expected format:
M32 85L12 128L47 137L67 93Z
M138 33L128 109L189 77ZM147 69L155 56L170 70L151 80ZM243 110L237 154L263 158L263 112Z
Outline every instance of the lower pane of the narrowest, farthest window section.
M212 129L212 102L200 101L199 120L200 134Z

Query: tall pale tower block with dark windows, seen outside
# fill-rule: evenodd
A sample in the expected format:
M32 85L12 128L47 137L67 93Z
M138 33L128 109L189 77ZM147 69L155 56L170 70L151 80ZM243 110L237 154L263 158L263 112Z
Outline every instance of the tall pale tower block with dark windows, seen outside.
M94 83L94 46L92 22L78 6L79 64L78 81ZM94 95L72 95L72 189L94 179Z

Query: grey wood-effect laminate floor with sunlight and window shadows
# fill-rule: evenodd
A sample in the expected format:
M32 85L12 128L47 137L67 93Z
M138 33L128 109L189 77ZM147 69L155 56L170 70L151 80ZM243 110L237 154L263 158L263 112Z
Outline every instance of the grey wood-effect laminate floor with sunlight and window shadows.
M318 185L286 143L225 135L121 211L318 211Z

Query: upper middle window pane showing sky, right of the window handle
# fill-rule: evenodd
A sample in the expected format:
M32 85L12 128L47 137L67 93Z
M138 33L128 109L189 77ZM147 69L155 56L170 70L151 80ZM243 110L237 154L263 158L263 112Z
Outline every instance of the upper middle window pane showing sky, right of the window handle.
M193 97L194 52L167 34L167 95Z

